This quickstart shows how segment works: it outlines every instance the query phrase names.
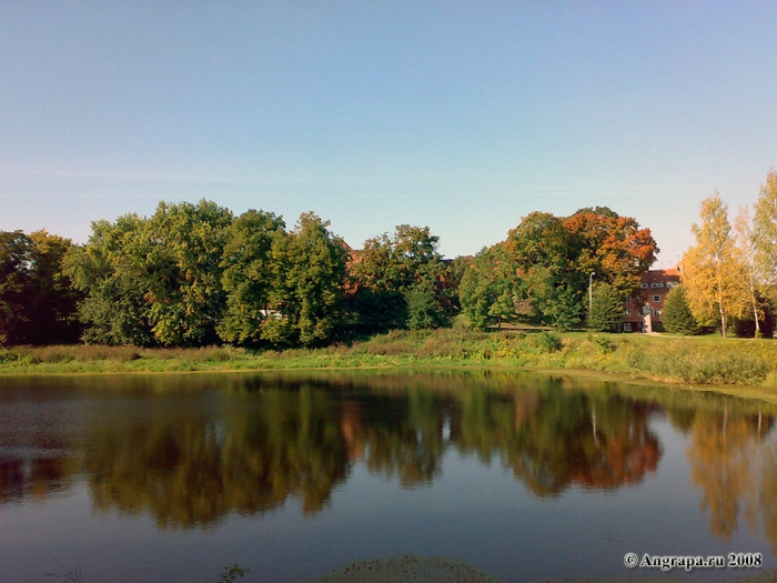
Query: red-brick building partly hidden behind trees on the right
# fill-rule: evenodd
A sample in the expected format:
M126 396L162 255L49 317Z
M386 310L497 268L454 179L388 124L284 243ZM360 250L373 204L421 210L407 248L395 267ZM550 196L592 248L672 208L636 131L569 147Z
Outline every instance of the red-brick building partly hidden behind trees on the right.
M664 330L662 311L666 294L679 285L680 272L676 269L656 269L642 274L639 298L624 302L624 332L659 332Z

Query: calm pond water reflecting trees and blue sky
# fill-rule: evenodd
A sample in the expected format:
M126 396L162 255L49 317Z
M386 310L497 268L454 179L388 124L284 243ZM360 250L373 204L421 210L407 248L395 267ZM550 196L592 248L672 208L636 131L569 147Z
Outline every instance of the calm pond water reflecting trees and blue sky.
M775 415L482 371L0 379L0 581L287 582L406 553L518 582L657 574L627 552L774 569Z

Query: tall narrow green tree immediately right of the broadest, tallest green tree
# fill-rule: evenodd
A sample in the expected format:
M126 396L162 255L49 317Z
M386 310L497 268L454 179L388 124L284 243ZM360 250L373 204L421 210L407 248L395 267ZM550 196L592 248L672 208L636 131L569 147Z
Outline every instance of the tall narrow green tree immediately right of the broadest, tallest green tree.
M256 343L262 339L262 324L275 318L273 290L279 285L272 247L285 237L285 223L273 213L249 210L228 229L222 284L226 293L226 311L218 332L228 342Z

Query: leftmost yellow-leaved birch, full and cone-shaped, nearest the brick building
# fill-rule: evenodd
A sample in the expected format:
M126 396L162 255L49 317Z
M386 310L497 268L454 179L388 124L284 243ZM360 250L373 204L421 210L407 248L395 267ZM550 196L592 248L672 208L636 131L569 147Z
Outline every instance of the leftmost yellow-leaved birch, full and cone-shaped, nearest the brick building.
M706 325L719 324L725 338L727 323L747 305L741 253L731 237L728 207L717 191L702 202L699 219L690 228L696 247L685 254L683 283L696 319Z

